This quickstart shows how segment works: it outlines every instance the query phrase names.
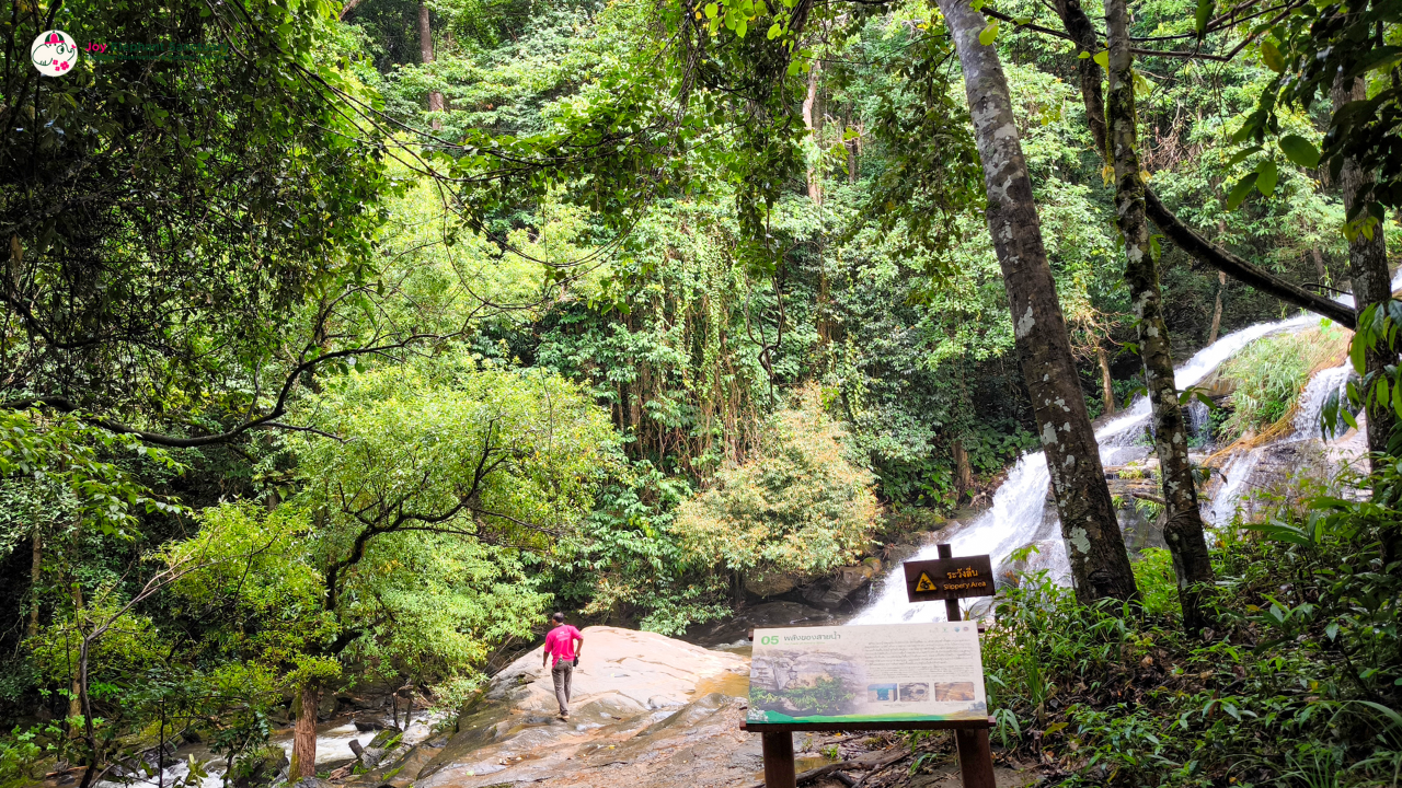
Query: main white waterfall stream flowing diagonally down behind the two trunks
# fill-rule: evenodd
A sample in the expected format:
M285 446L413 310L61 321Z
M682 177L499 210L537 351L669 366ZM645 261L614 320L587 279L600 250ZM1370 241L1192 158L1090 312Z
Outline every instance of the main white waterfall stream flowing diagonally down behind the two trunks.
M1251 342L1270 334L1304 331L1319 325L1319 321L1318 315L1302 314L1274 322L1259 322L1228 334L1179 366L1173 372L1173 380L1179 388L1196 386L1218 365ZM1136 443L1143 436L1148 422L1150 402L1147 398L1138 397L1124 415L1095 430L1095 439L1101 446L1101 463L1113 466L1119 464L1119 460L1126 454L1141 453L1143 447L1137 447ZM1067 572L1066 545L1061 543L1056 512L1054 509L1049 512L1046 506L1050 482L1046 456L1042 451L1023 454L994 494L993 506L967 526L951 531L948 543L953 548L953 554L988 554L997 569L1012 551L1036 544L1039 554L1035 565L1064 575ZM924 547L911 559L931 558L938 558L934 544ZM904 575L900 571L893 571L871 604L858 613L851 623L900 624L904 621L944 621L944 618L945 604L942 602L914 604L907 602Z

